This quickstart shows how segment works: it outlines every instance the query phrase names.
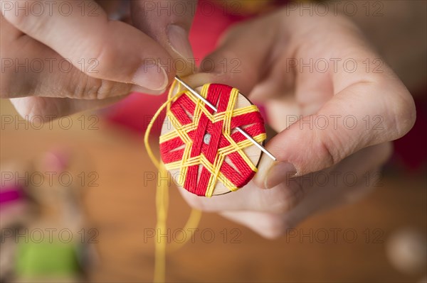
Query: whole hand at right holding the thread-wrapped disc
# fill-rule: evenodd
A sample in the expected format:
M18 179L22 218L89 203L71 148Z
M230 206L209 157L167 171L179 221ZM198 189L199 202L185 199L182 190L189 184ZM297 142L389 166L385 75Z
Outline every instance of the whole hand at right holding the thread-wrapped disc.
M209 64L214 70L186 81L228 84L263 103L279 132L266 148L278 161L263 155L253 181L237 192L207 199L181 189L186 201L275 238L312 213L369 192L391 154L389 141L415 121L411 95L378 57L342 16L283 9L232 28L205 58L217 63ZM240 72L223 70L236 58Z

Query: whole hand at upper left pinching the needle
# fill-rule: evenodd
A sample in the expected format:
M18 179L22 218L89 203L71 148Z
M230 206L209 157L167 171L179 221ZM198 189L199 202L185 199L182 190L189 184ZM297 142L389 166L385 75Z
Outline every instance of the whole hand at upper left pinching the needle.
M120 9L120 1L1 0L1 98L25 118L58 118L134 90L161 94L177 64L188 74L194 6L177 14L159 9L173 1L130 2L132 25L100 6Z

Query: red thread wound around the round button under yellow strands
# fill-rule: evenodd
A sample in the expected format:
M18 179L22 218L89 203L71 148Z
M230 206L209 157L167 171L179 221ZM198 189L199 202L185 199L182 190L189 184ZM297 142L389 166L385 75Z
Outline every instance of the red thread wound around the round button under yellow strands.
M206 99L214 105L218 104L217 113L226 111L231 89L232 87L228 87L224 84L211 84L209 86ZM194 102L191 101L188 96L183 95L179 97L174 104L172 104L171 112L178 119L179 123L181 123L182 126L185 126L194 123L194 121L192 121L192 119L187 115L187 112L194 115L195 106ZM213 113L211 109L206 109L209 113ZM245 131L251 136L265 133L263 118L260 116L259 112L244 113L231 118L231 129L243 126L246 126ZM206 133L211 135L209 145L204 143L204 136ZM201 113L197 128L188 133L192 140L190 157L204 155L211 164L214 164L216 155L218 154L218 149L225 148L230 145L222 133L223 121L212 123L204 113ZM246 139L239 132L231 134L231 138L233 138L236 143ZM182 160L184 149L176 150L176 148L180 148L182 145L186 144L181 140L181 138L173 138L160 144L160 155L162 156L164 164ZM241 188L252 179L255 172L245 162L245 160L243 160L238 152L233 152L227 156L237 170L228 163L223 162L220 171L228 181L231 182L231 184ZM193 194L205 196L211 172L209 172L206 167L202 167L199 174L199 166L200 165L189 166L183 187Z

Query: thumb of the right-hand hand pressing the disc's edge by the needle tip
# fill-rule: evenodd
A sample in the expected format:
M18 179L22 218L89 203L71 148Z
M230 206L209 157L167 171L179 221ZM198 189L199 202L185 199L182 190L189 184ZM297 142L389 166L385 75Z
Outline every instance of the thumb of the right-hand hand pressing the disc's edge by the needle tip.
M387 95L372 95L378 93ZM254 182L273 188L331 167L362 148L401 138L412 128L414 113L410 94L392 74L352 84L315 115L300 118L270 140L266 146L278 161L263 157Z

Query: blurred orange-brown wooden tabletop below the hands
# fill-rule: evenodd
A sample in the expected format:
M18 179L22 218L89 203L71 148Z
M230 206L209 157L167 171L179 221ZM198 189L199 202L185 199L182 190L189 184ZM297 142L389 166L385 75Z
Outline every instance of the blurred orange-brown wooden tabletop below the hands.
M1 116L16 120L15 115L9 102L1 101ZM99 175L98 187L85 188L88 227L99 231L93 244L99 260L90 270L90 280L150 282L154 239L144 240L144 233L155 226L155 182L144 181L144 174L147 177L155 169L142 136L102 120L96 123L97 129L88 124L82 129L81 115L73 116L69 130L56 122L52 129L47 124L41 129L2 125L0 160L28 160L57 145L83 155L82 168ZM93 121L90 115L85 113L83 120ZM386 243L399 228L410 226L426 233L425 173L386 174L382 182L383 187L362 201L302 223L294 232L307 234L303 238L265 240L221 216L204 213L194 243L167 255L167 281L418 282L425 274L395 270L387 258ZM173 233L184 225L190 210L176 188L170 192L168 225ZM321 243L325 231L329 239ZM337 231L336 240L332 231ZM347 237L344 231L349 231ZM357 235L354 241L352 235Z

